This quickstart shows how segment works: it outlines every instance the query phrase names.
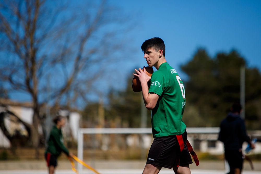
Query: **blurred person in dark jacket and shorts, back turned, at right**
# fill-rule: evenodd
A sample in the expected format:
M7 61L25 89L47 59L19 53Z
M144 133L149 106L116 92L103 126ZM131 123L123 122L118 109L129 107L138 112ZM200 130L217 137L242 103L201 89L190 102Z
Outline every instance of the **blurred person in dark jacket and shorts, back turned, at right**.
M234 103L231 112L220 124L218 140L224 143L225 158L228 161L230 172L228 174L240 174L243 167L242 144L248 142L252 148L250 137L246 133L244 120L240 117L242 107Z

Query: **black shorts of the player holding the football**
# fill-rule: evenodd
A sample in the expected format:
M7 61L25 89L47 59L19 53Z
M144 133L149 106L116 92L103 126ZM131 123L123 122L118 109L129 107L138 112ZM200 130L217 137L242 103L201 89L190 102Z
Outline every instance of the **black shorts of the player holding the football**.
M171 169L176 166L192 164L192 159L187 148L187 131L181 134L184 149L181 152L180 143L176 135L155 138L147 158L147 164ZM179 137L181 137L179 136ZM181 144L182 145L182 144Z

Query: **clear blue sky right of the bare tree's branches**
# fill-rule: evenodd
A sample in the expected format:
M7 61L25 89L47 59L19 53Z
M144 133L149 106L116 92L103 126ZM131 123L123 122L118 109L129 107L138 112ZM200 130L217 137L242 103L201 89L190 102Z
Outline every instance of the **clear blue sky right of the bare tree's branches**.
M180 74L180 65L199 47L210 56L236 49L250 67L261 69L261 1L109 1L133 13L137 25L133 65L146 65L140 46L146 39L160 37L166 59Z

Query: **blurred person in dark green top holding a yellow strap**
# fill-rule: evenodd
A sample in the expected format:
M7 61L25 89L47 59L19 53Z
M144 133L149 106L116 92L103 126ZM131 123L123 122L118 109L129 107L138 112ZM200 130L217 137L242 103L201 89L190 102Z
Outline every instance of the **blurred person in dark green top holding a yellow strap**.
M51 130L48 140L48 146L45 151L45 159L49 169L49 174L53 174L57 166L57 158L61 152L65 153L68 157L72 157L73 154L69 153L68 149L63 144L63 135L61 128L65 125L66 119L62 116L56 116L53 119L55 123Z

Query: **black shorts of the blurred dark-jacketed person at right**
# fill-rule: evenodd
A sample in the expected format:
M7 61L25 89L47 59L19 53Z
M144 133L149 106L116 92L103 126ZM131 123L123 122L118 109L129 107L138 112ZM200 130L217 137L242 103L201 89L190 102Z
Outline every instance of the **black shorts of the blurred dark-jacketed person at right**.
M225 158L228 161L230 169L243 168L242 152L239 150L225 150Z

